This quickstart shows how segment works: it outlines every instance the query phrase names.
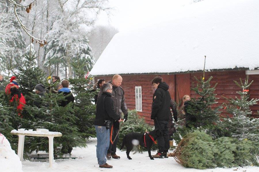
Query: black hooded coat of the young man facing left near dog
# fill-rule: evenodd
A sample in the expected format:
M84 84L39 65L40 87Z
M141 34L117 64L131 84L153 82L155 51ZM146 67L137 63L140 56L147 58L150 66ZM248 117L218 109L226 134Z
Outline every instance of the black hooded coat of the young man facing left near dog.
M168 91L169 86L162 82L158 85L153 95L151 117L156 117L158 121L168 121L170 112L171 96Z

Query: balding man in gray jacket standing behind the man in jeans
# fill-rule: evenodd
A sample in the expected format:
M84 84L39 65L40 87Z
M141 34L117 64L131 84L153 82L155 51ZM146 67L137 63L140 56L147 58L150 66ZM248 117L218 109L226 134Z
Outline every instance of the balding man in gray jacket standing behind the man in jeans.
M108 83L111 83L113 85L113 92L111 93L111 99L113 100L114 111L116 112L116 114L120 115L120 117L121 117L121 113L123 112L124 119L125 119L124 122L126 122L126 120L128 118L128 108L125 103L124 91L120 86L122 83L122 77L120 75L116 74L113 76L113 80ZM98 93L98 98L101 95L102 95L102 92L100 91ZM114 121L113 122L112 140L114 140L119 128L120 128L119 122ZM110 134L111 134L111 129L110 129ZM107 159L110 159L111 157L113 157L114 159L120 159L120 157L118 155L116 155L116 146L117 146L118 140L119 140L119 137L117 136L117 138L113 142L113 144L111 144L111 142L110 142L110 146L109 146L109 149L107 151L107 156L106 156Z

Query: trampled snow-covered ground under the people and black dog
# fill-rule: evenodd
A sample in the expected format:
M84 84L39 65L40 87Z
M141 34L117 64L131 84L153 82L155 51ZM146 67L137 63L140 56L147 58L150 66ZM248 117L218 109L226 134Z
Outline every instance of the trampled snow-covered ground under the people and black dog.
M176 163L173 157L164 159L151 160L148 157L148 153L143 154L133 152L130 153L132 160L127 159L125 151L119 151L117 149L117 155L121 159L107 160L109 165L113 165L112 169L99 168L96 158L96 138L92 138L87 141L86 148L73 148L72 157L78 157L78 159L64 159L56 160L53 164L53 168L49 168L48 162L35 162L35 161L23 161L23 172L86 172L86 171L113 171L113 172L127 172L127 171L176 171L176 172L196 172L196 171L233 171L237 169L237 172L256 172L259 171L259 167L238 167L238 168L216 168L198 170L192 168L182 167ZM152 152L155 154L155 152Z

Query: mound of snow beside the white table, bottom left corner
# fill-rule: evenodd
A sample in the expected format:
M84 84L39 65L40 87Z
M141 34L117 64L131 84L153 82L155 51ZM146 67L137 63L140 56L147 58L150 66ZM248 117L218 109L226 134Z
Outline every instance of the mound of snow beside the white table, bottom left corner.
M3 134L0 134L0 169L3 172L22 172L22 163Z

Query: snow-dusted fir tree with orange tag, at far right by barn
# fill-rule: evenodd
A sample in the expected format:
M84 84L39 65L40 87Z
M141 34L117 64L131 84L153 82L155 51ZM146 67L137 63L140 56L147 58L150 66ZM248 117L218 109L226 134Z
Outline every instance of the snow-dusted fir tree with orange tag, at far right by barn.
M224 118L223 126L231 132L234 138L239 140L249 139L259 142L259 119L251 118L252 110L250 106L255 105L259 99L249 99L249 88L253 83L249 83L248 76L243 83L240 78L240 83L234 81L241 91L237 91L240 98L228 99L226 110L228 113L233 114L232 118Z

